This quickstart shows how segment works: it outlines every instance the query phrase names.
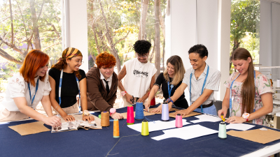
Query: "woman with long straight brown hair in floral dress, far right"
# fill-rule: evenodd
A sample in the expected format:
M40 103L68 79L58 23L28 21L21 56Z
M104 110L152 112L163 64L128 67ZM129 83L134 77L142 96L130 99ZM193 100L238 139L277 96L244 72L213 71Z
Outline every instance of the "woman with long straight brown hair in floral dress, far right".
M254 70L251 54L244 48L232 53L232 63L237 72L224 83L227 91L218 116L226 115L230 108L230 117L225 122L240 124L250 121L266 126L265 115L273 110L274 91L269 80Z

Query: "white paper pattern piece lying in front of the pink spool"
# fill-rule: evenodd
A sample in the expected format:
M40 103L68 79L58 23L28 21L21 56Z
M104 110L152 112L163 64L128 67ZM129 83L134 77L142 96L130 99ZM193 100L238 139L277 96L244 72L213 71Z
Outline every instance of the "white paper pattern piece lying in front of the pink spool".
M206 128L204 126L200 126L199 124L193 126L184 126L183 128L173 128L170 130L163 130L164 135L152 137L153 140L165 140L167 138L181 138L183 140L189 140L196 137L201 137L205 135L211 135L214 133L218 133L217 130L213 130L210 128Z

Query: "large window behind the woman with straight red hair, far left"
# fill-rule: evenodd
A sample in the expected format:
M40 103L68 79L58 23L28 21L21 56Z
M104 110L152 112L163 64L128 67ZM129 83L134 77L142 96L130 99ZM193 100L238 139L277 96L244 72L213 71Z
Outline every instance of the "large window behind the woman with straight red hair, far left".
M30 50L56 63L62 53L60 0L0 0L0 68L6 79L18 72ZM3 80L2 78L2 80Z

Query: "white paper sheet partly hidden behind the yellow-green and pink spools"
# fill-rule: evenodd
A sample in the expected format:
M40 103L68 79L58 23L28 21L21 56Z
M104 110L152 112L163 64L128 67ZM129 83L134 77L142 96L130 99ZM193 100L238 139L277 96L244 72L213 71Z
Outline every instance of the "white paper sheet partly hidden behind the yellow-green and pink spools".
M183 126L190 124L186 121L186 119L183 119ZM128 125L129 128L132 128L133 130L137 130L138 132L141 132L142 130L142 124L133 124ZM157 131L157 130L165 130L167 128L175 128L175 120L174 121L149 121L148 122L148 130L149 132Z

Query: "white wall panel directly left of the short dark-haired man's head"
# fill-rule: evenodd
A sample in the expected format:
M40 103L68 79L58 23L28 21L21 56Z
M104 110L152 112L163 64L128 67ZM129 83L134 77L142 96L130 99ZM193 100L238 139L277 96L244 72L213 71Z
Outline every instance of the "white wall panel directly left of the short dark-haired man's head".
M185 69L191 68L188 50L196 44L196 0L171 0L171 55L183 60ZM185 96L190 104L188 88Z

